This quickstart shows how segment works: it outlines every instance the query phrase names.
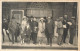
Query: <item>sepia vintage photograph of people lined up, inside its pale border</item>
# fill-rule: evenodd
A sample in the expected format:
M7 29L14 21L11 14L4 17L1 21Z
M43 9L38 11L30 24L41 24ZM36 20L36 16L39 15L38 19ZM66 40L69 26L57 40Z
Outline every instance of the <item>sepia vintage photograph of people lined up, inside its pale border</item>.
M78 50L78 2L2 2L2 49Z

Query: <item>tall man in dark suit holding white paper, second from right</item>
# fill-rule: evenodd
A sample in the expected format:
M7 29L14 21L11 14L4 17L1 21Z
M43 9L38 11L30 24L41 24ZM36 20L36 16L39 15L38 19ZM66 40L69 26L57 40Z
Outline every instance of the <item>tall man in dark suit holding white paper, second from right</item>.
M64 15L64 20L63 20L63 43L66 43L66 37L68 35L68 29L69 29L69 24L67 23L68 22L68 17L67 15Z

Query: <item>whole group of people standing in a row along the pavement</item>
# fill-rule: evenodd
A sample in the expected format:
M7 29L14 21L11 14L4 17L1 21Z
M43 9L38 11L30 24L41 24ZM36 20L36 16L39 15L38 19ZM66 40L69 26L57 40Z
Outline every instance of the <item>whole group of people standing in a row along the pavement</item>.
M47 45L52 46L53 37L54 37L54 29L55 29L55 21L52 20L51 17L37 19L35 17L28 18L24 16L22 18L22 22L18 23L15 18L12 17L11 21L8 23L6 19L3 19L3 42L4 42L4 34L8 35L9 41L13 44L18 42L17 38L20 36L21 44L30 43L33 44L42 44L44 41L44 37L47 40ZM58 45L62 45L66 43L67 35L70 34L69 43L73 44L73 39L76 34L76 24L75 18L72 17L70 20L67 15L64 17L59 17L57 19L57 29L58 33ZM10 39L9 34L12 35Z

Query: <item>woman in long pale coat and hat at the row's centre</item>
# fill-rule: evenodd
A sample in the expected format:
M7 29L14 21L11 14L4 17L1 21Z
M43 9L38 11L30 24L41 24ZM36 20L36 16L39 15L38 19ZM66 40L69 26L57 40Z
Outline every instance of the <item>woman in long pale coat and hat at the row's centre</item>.
M43 22L43 21L44 21L44 18L41 18L40 22L38 24L39 30L38 30L37 39L38 39L39 44L43 43L43 41L44 41L43 39L45 37L45 22Z

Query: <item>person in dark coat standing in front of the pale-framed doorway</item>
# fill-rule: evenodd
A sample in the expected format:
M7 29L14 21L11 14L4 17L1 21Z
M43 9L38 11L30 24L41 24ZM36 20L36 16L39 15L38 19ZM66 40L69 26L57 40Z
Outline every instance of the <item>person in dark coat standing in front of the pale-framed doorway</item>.
M17 38L16 30L17 30L17 22L16 22L16 19L12 17L12 20L9 24L9 31L12 34L12 44L16 42L16 38Z

